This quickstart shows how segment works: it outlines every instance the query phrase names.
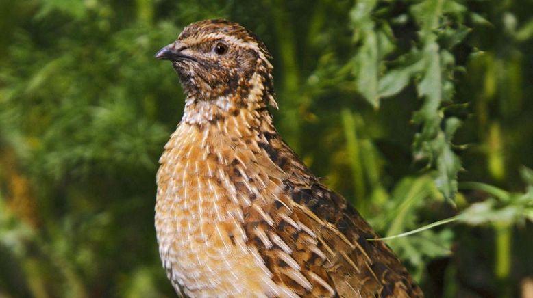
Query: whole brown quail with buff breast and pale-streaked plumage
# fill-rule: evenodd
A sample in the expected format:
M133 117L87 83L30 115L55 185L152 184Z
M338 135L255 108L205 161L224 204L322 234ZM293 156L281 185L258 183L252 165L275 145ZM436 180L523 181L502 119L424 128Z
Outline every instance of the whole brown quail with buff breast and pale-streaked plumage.
M186 27L156 54L186 90L158 171L166 273L190 297L421 297L345 198L282 141L270 54L223 20Z

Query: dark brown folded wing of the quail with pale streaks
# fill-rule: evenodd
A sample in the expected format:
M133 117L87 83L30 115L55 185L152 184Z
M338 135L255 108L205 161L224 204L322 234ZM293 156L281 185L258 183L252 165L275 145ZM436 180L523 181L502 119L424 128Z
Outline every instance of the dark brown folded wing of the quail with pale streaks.
M284 176L271 177L280 191L262 207L271 220L248 221L246 229L277 284L303 297L423 297L391 249L368 240L377 234L345 198L321 184L280 138L262 139Z

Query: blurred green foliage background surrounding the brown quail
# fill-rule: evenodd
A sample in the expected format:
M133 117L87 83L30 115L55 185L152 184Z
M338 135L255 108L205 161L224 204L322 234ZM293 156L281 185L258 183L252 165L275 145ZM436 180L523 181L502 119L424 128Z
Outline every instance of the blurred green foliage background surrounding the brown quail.
M0 0L0 297L175 296L153 206L184 95L153 54L220 17L264 40L280 133L382 236L450 221L387 241L427 297L523 295L532 12L530 0Z

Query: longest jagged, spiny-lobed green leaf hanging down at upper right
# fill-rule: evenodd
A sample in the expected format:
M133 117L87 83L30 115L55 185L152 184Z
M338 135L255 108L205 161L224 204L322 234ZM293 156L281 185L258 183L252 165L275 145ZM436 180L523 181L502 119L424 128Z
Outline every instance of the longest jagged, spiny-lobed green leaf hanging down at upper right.
M421 26L419 34L423 41L423 70L419 73L417 92L423 98L423 105L413 114L413 122L422 128L414 137L413 155L415 161L425 161L427 168L435 168L435 182L438 189L454 202L457 192L457 174L461 168L460 159L451 149L451 137L460 122L444 119L440 110L443 102L451 102L454 96L454 56L441 49L436 42L439 37L447 40L449 47L455 46L467 33L466 28L442 30L443 13L455 14L461 18L464 7L457 3L438 0L421 1L411 7L411 14ZM447 131L441 124L445 123Z

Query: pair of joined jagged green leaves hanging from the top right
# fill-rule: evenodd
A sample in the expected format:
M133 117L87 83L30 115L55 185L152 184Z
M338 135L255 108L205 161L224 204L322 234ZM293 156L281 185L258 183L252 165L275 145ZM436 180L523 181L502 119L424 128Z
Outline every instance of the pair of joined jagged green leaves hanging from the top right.
M454 96L452 80L456 66L450 51L469 31L465 25L454 24L453 20L462 20L466 8L454 1L437 0L412 5L410 16L420 28L417 43L406 53L400 53L397 66L384 71L380 77L380 64L384 64L384 58L395 48L393 32L386 18L380 20L380 29L375 29L371 19L375 5L375 1L360 1L351 11L356 40L362 40L354 64L358 91L377 107L380 97L394 96L411 80L415 81L417 93L424 103L412 119L414 124L422 126L414 136L414 160L425 161L427 167L436 168L438 188L446 198L453 200L460 160L451 149L451 139L460 121L457 118L444 119L441 109L442 103L450 103ZM445 128L441 128L442 124Z

